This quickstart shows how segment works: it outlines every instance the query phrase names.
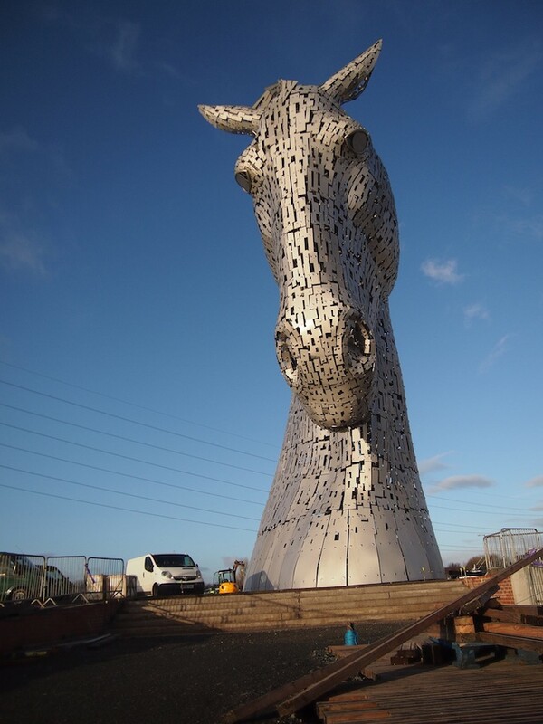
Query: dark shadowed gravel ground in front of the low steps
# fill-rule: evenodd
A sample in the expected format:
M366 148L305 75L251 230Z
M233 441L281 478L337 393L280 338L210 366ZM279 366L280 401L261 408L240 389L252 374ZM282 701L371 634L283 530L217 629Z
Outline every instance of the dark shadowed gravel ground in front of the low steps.
M402 624L360 625L372 643ZM32 724L219 724L226 711L331 661L343 627L115 639L0 666L0 722ZM261 724L313 724L302 718Z

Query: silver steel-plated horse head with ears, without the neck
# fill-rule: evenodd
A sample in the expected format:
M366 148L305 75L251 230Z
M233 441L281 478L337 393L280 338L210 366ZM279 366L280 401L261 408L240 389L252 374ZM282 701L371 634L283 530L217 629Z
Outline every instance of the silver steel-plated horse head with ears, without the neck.
M235 177L252 195L279 285L277 357L313 422L332 430L370 414L379 319L398 265L386 170L342 110L365 90L380 49L320 86L278 81L251 107L199 107L218 129L254 137Z

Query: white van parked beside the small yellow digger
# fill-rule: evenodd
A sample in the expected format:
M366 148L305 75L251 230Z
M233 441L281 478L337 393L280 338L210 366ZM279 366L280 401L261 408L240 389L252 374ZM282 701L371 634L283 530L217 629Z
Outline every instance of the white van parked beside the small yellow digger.
M127 561L127 576L136 577L138 595L203 594L204 579L186 553L148 553Z

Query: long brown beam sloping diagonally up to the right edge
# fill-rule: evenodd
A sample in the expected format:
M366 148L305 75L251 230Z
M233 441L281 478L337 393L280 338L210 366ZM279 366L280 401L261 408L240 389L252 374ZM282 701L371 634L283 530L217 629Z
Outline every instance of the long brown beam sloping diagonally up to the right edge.
M442 605L432 614L408 624L392 636L368 646L363 651L356 651L337 662L330 663L317 672L311 672L302 676L296 681L291 681L279 689L270 691L258 699L243 704L240 707L228 712L224 721L226 724L250 719L265 712L276 710L283 715L288 715L300 710L313 701L329 693L349 677L357 675L357 672L364 671L370 664L398 649L402 643L414 638L419 633L424 633L430 626L442 620L446 616L458 611L462 607L472 605L473 602L486 600L500 581L509 578L521 568L543 555L543 548L540 548L530 556L524 557L512 566L505 568L496 576L468 591L464 595L455 598L451 603ZM357 720L357 719L355 719ZM363 720L363 719L362 719ZM462 719L461 719L462 720ZM504 719L507 720L507 719ZM543 717L541 719L543 721Z

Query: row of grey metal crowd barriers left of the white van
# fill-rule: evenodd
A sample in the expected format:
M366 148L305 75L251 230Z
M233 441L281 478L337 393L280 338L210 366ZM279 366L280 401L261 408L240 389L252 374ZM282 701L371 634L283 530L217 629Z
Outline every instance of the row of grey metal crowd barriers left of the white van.
M0 606L59 605L136 595L122 558L0 552Z

